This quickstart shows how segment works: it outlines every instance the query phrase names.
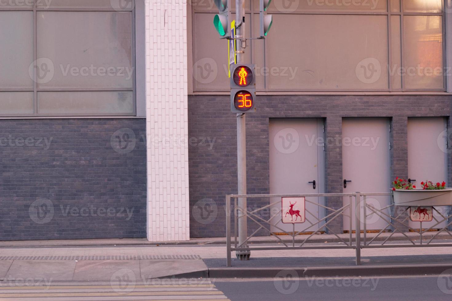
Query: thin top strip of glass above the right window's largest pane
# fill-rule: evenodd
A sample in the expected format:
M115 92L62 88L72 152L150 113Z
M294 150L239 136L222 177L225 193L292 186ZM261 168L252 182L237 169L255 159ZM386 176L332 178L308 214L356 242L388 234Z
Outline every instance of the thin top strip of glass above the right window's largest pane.
M258 1L259 2L259 1ZM269 13L288 14L301 11L367 11L386 12L387 1L380 0L274 0Z

